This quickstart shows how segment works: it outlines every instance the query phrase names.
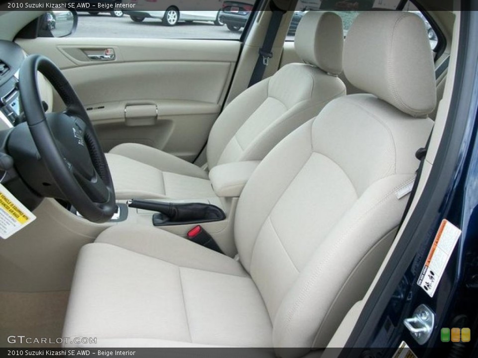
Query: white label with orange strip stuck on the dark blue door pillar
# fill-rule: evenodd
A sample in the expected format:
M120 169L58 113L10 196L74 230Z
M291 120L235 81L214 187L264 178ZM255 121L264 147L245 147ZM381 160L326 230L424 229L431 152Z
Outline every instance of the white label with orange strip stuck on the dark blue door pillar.
M427 261L417 282L430 297L433 297L435 294L461 234L462 231L448 220L443 220L440 224L438 233L428 253Z

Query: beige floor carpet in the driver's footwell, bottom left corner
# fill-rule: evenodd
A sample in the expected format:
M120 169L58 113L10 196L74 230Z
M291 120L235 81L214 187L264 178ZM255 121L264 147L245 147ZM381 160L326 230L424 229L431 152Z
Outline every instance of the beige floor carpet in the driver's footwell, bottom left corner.
M49 344L61 337L70 291L0 292L0 347L59 347ZM8 336L46 338L47 344L9 344ZM41 340L40 340L41 342Z

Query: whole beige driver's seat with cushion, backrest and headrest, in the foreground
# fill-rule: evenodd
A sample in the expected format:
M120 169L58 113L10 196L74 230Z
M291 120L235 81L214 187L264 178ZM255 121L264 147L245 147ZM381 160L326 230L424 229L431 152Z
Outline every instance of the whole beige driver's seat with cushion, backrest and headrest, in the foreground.
M237 208L239 261L152 227L108 229L81 250L64 337L325 347L391 244L436 101L414 14L360 14L344 65L373 94L333 100L257 167Z

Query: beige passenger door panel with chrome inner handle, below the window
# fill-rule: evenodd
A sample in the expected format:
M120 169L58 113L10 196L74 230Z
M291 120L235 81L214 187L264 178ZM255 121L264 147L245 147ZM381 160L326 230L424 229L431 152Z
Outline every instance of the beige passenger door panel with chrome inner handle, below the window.
M188 161L206 143L240 49L239 41L182 39L37 38L17 43L62 69L105 151L134 142ZM113 59L98 60L105 54ZM62 106L54 93L53 109Z

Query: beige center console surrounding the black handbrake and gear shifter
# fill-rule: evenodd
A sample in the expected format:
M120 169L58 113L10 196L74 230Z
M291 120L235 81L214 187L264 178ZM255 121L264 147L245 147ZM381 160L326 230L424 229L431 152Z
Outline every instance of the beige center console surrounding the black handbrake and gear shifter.
M243 166L239 165L239 167ZM228 167L229 170L227 170ZM232 174L231 171L238 170L235 170L233 167L230 165L215 167L210 172L210 179L214 188L219 189L223 187L231 189L220 191L221 194L236 196L219 196L216 192L216 195L207 198L185 200L164 198L157 200L179 204L204 203L220 208L226 215L224 220L204 222L199 225L214 238L220 250L229 257L234 257L237 254L234 242L234 218L239 202L238 196L246 181L243 179L239 180L236 174ZM224 181L222 181L224 186L218 186L218 183L214 181L215 176L224 178ZM230 181L229 184L227 184L228 180ZM18 266L9 265L6 262L6 265L3 265L1 268L2 272L4 275L12 277L12 279L6 280L2 288L10 291L21 291L22 287L25 286L48 291L69 290L74 270L74 266L71 264L76 261L78 252L84 245L94 242L102 232L112 226L120 227L125 225L125 227L130 227L141 225L153 227L152 217L156 212L128 207L126 200L119 200L117 204L119 205L119 212L110 222L94 223L78 216L76 211L72 212L65 209L65 203L52 198L45 198L35 209L37 219L26 226L24 230L15 234L14 240L3 240L5 241L2 243L2 254L4 257L23 255L31 257L31 260L25 261L22 270L18 270ZM178 240L186 240L189 239L188 233L197 226L198 224L176 223L174 225L158 226L157 230L168 231L184 238L178 238ZM195 231L198 230L196 229ZM158 232L158 234L160 233ZM35 246L34 256L31 256L32 243ZM207 242L200 244L207 247ZM56 255L58 248L62 249L62 255ZM23 270L28 270L35 274L29 277L24 277L23 275L20 279L17 275L18 272L23 272Z

